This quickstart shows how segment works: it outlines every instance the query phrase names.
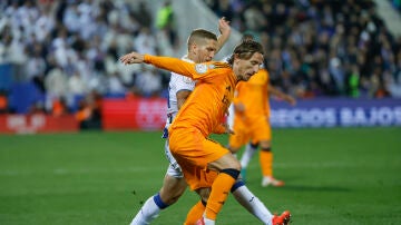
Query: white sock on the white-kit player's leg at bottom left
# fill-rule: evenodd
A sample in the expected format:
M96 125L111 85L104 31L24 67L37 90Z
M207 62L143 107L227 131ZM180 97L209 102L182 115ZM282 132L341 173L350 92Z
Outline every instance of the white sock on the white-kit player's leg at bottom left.
M130 225L147 225L150 224L160 213L160 208L156 205L154 196L149 197L138 214L134 217Z

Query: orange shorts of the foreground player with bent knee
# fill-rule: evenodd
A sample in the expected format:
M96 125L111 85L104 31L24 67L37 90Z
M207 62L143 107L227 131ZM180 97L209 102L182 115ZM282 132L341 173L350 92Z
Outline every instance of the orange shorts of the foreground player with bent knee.
M190 189L211 187L217 172L207 169L207 164L229 154L221 144L205 138L196 128L169 130L168 143L174 158L182 167Z

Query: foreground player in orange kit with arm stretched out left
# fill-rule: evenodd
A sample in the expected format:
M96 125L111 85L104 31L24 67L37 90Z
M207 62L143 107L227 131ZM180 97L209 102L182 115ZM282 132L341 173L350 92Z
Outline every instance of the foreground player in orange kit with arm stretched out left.
M222 124L234 97L238 81L248 80L263 61L262 46L255 41L238 45L224 62L189 63L168 57L155 57L137 52L121 57L123 63L151 63L197 80L197 85L178 111L168 130L169 148L183 169L193 190L212 186L204 217L199 224L215 224L229 189L239 175L239 162L222 145L208 139L215 134L229 133ZM218 172L211 180L209 170ZM277 217L286 224L290 213ZM272 218L274 222L274 218ZM274 222L275 223L275 222Z

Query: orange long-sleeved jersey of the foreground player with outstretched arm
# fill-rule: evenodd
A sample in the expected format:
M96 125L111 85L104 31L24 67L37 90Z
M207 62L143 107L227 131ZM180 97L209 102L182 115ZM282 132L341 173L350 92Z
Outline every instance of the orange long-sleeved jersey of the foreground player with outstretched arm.
M145 62L197 80L196 88L179 109L169 131L195 127L204 137L224 133L222 120L234 97L236 77L228 63L190 63L169 57L145 55Z

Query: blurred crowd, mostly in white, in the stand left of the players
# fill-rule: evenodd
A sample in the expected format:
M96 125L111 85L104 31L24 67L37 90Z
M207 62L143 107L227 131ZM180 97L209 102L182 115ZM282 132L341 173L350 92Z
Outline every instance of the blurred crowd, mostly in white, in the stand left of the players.
M21 113L16 101L35 95L28 113L77 113L82 119L98 114L102 97L160 96L167 72L125 67L118 58L174 50L173 11L167 3L154 18L146 1L136 2L1 1L0 65L11 65L12 81L4 87L0 80L0 111ZM20 89L31 92L21 96Z

